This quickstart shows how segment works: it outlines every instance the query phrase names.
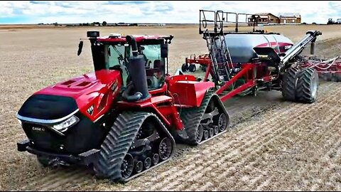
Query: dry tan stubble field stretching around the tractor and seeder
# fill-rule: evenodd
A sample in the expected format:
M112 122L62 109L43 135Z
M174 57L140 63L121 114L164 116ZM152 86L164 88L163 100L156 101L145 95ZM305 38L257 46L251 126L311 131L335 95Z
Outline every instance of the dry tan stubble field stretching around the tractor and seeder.
M317 29L317 53L340 55L340 26L268 26L298 41ZM232 191L341 190L341 84L321 82L312 105L284 102L281 92L234 97L225 102L229 132L201 146L178 145L175 158L124 185L95 178L80 167L46 169L35 156L20 153L25 139L15 114L33 92L92 71L89 43L77 56L86 31L165 34L171 70L190 54L206 53L197 26L108 28L12 28L0 36L0 190L25 191Z

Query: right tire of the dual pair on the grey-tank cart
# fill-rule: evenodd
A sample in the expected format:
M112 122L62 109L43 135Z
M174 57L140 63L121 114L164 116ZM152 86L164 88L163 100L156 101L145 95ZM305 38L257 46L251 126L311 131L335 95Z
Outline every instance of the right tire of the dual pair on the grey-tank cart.
M298 73L297 99L304 103L313 103L318 97L318 73L313 68L305 68Z

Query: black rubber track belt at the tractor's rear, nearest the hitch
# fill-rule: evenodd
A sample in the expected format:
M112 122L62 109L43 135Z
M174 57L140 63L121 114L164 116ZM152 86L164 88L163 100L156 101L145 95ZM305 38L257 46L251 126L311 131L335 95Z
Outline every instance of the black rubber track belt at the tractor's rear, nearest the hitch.
M220 103L220 108L224 111L224 113L227 115L227 117L229 117L229 114L227 113L224 105L222 104L220 98L218 95L215 94L215 92L213 91L207 91L205 94L205 97L202 99L201 105L200 107L193 107L193 108L189 108L189 109L183 109L180 113L180 119L183 121L184 127L185 127L185 131L188 134L189 139L187 141L185 141L185 143L187 144L192 144L192 145L197 145L198 143L195 141L195 134L197 131L197 127L199 127L199 124L201 122L201 119L205 113L205 110L207 108L207 105L210 103L210 100L212 98L216 97L217 100L219 101L218 103ZM227 124L227 128L229 127L229 122ZM227 129L224 130L224 132L226 132ZM222 133L222 132L220 132ZM217 134L219 135L219 134ZM217 135L215 135L214 137L216 137ZM210 137L210 139L214 138L214 137ZM199 144L202 144L204 142L207 142L207 139L205 141L200 142Z

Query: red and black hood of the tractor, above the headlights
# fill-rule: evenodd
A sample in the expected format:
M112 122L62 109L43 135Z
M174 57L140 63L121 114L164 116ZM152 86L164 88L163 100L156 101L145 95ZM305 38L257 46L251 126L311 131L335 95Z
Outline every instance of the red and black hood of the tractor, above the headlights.
M118 70L98 70L34 93L23 103L17 117L27 122L58 122L81 112L95 121L101 117L119 92Z

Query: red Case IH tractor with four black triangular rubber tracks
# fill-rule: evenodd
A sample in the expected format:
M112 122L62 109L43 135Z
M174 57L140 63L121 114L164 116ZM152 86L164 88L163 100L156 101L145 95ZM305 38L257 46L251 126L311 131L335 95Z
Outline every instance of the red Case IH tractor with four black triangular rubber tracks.
M168 74L173 36L87 36L94 73L23 103L16 117L28 139L18 151L43 166L91 165L99 177L129 181L168 161L175 142L197 145L227 131L229 115L213 82Z

